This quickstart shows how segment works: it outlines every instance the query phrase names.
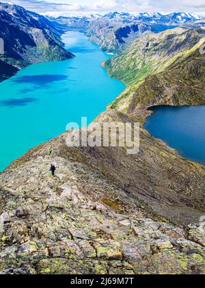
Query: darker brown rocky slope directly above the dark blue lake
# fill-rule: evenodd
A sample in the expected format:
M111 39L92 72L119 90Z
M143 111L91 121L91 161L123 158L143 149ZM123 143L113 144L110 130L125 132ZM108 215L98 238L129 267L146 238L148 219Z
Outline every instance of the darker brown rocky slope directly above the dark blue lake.
M205 56L194 51L184 60L146 81L133 94L128 113L152 105L200 105L205 103Z

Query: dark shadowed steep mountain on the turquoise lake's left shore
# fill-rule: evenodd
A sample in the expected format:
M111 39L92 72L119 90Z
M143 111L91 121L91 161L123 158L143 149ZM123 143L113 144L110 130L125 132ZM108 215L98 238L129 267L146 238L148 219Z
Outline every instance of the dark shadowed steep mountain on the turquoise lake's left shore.
M4 42L0 60L5 62L4 66L12 67L3 70L1 63L0 80L29 64L74 57L64 49L61 33L63 28L59 24L43 16L20 6L0 3L0 38Z

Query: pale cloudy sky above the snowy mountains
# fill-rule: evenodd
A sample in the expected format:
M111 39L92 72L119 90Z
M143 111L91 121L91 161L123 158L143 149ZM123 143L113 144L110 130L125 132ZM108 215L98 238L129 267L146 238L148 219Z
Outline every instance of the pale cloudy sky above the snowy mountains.
M197 12L205 13L204 0L8 0L43 14L72 12Z

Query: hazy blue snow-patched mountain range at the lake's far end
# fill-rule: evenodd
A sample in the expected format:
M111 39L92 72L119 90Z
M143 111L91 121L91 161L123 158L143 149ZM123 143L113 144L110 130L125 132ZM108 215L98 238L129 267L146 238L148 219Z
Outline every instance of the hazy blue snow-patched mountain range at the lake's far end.
M83 31L92 42L109 53L121 53L143 34L159 33L176 27L205 27L204 18L197 14L109 12L105 15L51 18L66 25L67 29Z

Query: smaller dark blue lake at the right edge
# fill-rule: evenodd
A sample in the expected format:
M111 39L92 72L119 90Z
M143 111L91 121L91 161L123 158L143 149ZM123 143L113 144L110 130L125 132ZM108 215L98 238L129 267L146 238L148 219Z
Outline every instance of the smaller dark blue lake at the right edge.
M205 165L205 105L159 106L152 111L145 128L183 157Z

